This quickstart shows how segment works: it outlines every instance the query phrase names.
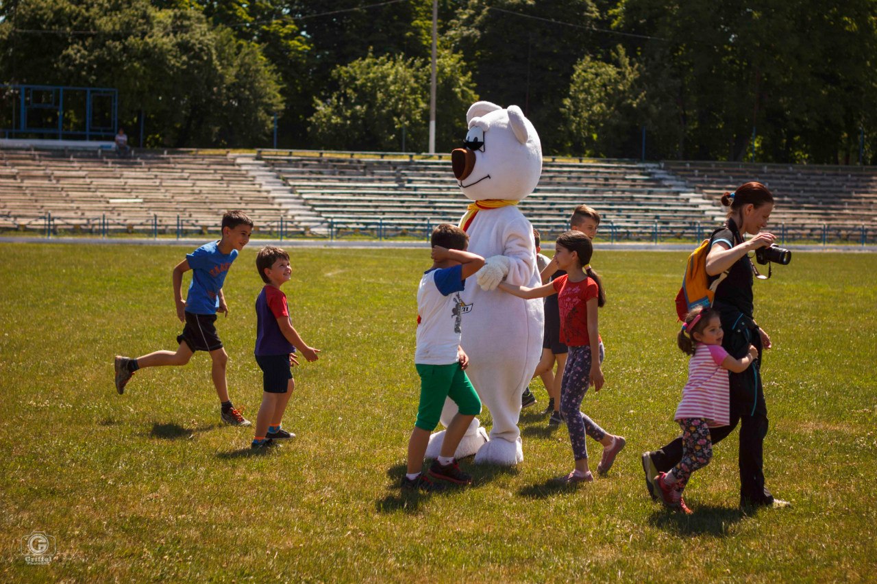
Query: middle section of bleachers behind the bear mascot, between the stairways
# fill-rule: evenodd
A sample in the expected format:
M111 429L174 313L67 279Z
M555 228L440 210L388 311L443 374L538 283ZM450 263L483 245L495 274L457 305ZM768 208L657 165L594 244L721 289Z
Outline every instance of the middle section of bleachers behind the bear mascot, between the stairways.
M426 224L455 223L467 199L453 178L450 159L289 156L260 153L291 189L338 226L367 230L420 230ZM536 189L520 203L531 223L545 234L566 229L573 207L599 209L604 224L625 239L652 237L655 224L685 232L708 224L712 205L692 201L682 189L652 176L655 165L627 161L545 160ZM702 199L702 197L700 197Z

